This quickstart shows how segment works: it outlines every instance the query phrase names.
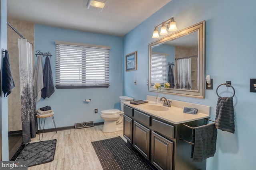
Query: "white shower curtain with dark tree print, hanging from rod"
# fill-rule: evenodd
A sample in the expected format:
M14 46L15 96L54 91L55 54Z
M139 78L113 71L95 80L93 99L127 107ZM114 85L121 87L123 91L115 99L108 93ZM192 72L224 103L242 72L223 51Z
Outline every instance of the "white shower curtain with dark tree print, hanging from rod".
M22 141L29 143L31 138L36 137L36 102L33 87L33 60L32 45L27 39L18 39L19 68L20 68L20 99Z

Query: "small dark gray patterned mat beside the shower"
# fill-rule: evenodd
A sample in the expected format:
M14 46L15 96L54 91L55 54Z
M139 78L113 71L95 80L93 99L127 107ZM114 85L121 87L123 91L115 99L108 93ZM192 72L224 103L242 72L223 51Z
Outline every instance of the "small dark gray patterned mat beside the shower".
M54 160L57 139L28 143L16 161L27 161L27 166L48 163Z

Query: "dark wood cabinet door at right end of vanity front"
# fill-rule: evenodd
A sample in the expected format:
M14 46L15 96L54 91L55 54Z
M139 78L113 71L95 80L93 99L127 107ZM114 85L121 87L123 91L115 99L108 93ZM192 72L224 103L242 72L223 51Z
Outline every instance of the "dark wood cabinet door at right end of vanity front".
M160 170L172 170L173 143L168 139L152 132L151 162Z

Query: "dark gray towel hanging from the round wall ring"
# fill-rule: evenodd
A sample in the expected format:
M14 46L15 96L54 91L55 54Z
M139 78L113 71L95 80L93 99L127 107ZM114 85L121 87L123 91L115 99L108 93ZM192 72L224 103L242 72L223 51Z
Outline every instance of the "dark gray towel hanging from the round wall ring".
M235 116L232 97L218 98L215 126L222 131L235 133Z

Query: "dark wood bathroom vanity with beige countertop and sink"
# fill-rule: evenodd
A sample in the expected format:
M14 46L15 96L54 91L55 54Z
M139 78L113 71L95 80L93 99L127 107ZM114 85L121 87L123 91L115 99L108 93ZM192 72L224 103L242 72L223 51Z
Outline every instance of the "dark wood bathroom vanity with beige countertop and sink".
M147 97L148 100L148 97ZM172 100L172 107L154 104L124 103L124 131L127 141L148 162L160 170L205 170L206 160L190 158L192 129L207 124L210 106ZM184 107L198 109L195 115L183 113Z

